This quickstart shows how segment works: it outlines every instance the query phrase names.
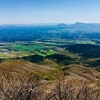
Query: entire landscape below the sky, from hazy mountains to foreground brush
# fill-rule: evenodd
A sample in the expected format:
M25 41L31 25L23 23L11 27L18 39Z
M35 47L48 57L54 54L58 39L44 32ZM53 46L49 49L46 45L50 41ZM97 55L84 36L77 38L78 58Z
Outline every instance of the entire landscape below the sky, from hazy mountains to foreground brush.
M0 100L99 100L98 27L1 26Z

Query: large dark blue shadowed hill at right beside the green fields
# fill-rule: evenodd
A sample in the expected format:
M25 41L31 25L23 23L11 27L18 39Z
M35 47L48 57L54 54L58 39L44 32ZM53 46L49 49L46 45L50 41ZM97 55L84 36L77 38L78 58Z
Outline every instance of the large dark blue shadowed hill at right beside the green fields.
M92 44L75 44L66 48L70 52L79 53L84 58L100 57L100 46Z

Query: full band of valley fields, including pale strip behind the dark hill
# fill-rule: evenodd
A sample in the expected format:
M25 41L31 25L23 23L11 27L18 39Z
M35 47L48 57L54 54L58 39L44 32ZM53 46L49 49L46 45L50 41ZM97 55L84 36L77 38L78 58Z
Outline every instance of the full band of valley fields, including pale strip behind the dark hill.
M81 57L77 53L71 53L65 48L67 45L74 44L95 44L90 40L64 40L64 41L30 41L30 42L8 42L1 43L0 58L17 58L31 55L40 55L43 57L53 54L63 54L74 59Z

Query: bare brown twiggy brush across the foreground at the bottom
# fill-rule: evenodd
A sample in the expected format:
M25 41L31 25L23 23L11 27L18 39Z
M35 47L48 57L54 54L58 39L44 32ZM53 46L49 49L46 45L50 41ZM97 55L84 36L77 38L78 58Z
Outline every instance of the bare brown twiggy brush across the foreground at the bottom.
M61 73L57 80L39 80L32 74L11 78L0 74L0 100L100 100L100 82L81 78L65 78Z

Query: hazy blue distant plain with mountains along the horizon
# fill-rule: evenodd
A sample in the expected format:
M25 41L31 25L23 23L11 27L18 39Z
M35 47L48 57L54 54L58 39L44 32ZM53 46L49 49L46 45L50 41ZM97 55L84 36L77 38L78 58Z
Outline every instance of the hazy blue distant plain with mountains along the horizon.
M33 41L48 39L100 39L100 23L75 24L59 23L57 25L1 25L0 41Z

